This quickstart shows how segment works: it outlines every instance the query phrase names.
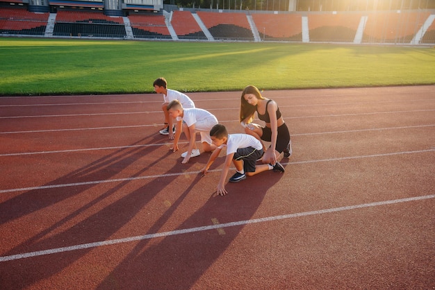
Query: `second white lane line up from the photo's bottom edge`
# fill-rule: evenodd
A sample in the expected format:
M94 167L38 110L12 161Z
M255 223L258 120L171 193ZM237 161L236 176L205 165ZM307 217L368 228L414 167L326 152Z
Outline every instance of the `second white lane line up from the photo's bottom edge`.
M283 162L281 164L289 165L289 164L308 164L308 163L315 163L315 162L335 162L335 161L341 161L341 160L353 160L353 159L372 158L372 157L385 157L385 156L404 155L404 154L418 154L418 153L426 153L426 152L434 152L434 151L435 151L435 148L431 148L431 149L419 150L419 151L402 151L402 152L384 153L384 154L336 157L336 158L320 159L320 160L305 160L305 161L286 162L286 163ZM218 171L222 171L222 169L213 169L213 170L209 170L208 172L218 172ZM98 185L100 183L124 182L124 181L133 181L133 180L143 180L143 179L148 179L148 178L164 178L164 177L169 177L169 176L186 176L186 175L192 175L192 174L197 175L199 173L200 173L200 171L184 171L184 172L177 172L177 173L158 174L155 176L137 176L137 177L131 177L131 178L115 178L115 179L108 179L108 180L93 180L93 181L86 181L86 182L65 183L65 184L60 184L60 185L42 185L39 187L23 187L23 188L13 188L13 189L2 189L2 190L0 190L0 194L5 194L8 192L16 192L16 191L53 189L53 188L60 188L60 187L76 187L76 186L83 186L83 185Z

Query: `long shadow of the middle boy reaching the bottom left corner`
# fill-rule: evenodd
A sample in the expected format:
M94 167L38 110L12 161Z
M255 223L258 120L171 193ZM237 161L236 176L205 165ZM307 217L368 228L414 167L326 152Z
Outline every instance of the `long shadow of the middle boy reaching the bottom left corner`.
M166 155L159 159L156 159L148 167L152 167L158 162L162 162L167 155L172 154L167 151ZM193 164L193 163L192 163ZM191 165L192 165L191 164ZM173 171L181 166L179 162L174 164L174 167L167 170L167 172ZM182 164L184 169L188 169L186 164ZM147 168L148 168L147 167ZM142 169L135 173L134 176L140 176L147 168ZM79 212L83 211L82 208L70 214L63 221L56 223L49 229L43 230L40 234L28 239L23 244L13 248L5 255L14 255L16 253L23 253L23 251L31 250L44 250L49 248L58 248L60 246L74 246L77 244L87 244L95 241L104 241L113 236L120 228L122 228L126 223L131 221L131 219L136 216L142 207L147 205L161 190L167 187L167 184L172 182L178 176L167 176L165 177L165 182L161 182L159 178L149 179L146 185L142 185L136 190L130 193L123 194L122 198L111 203L110 205L104 207L102 210L95 212L83 221L76 223L63 232L58 234L51 234L60 224L65 223L67 220L71 219ZM113 188L106 191L101 195L101 200L106 196L115 194L115 192L120 192L126 190L126 186L129 185L129 180L117 183ZM151 190L149 190L151 189ZM98 201L91 201L90 203L97 203ZM88 205L86 206L88 207ZM90 252L92 248L87 248L83 250L74 250L72 252L58 253L54 255L44 255L40 257L33 257L28 259L20 259L19 262L8 261L1 262L0 264L0 286L5 287L5 289L23 289L30 287L31 285L38 283L40 280L45 280L50 278L52 275L67 268L81 257ZM43 267L37 266L43 265Z

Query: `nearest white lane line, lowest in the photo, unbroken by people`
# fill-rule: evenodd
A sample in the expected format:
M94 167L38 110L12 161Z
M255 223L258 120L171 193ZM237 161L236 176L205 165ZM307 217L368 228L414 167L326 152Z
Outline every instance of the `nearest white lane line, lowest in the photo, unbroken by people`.
M313 215L318 215L318 214L329 214L331 212L343 212L343 211L347 211L347 210L358 210L358 209L366 208L366 207L378 207L378 206L382 206L382 205L394 205L397 203L408 203L411 201L423 201L423 200L427 200L427 199L431 199L431 198L435 198L435 194L427 195L427 196L415 196L415 197L410 197L410 198L400 198L400 199L394 199L394 200L390 200L390 201L378 201L378 202L374 202L374 203L363 203L363 204L359 204L359 205L348 205L348 206L344 206L344 207L333 207L333 208L328 208L325 210L313 210L311 212L297 212L295 214L282 214L279 216L267 216L267 217L263 217L263 218L259 218L259 219L248 219L245 221L233 221L230 223L215 223L213 225L204 225L201 227L186 228L183 230L172 230L169 232L157 232L155 234L144 234L144 235L136 236L136 237L126 237L123 239L110 239L107 241L96 241L94 243L88 243L88 244L79 244L79 245L75 245L75 246L67 246L67 247L62 247L62 248L52 248L52 249L48 249L48 250L38 250L35 252L28 252L28 253L22 253L22 254L17 254L17 255L1 256L0 262L13 261L16 259L25 259L28 257L38 257L38 256L42 256L42 255L51 255L51 254L56 254L56 253L64 253L64 252L68 252L68 251L72 251L72 250L83 250L86 248L96 248L96 247L109 246L109 245L114 245L114 244L123 244L123 243L129 243L132 241L142 241L145 239L156 239L159 237L169 237L169 236L174 236L177 234L188 234L190 232L204 232L206 230L217 230L217 229L235 227L235 226L240 226L240 225L249 225L252 223L265 223L268 221L279 221L279 220L283 220L283 219L293 219L293 218L298 218L298 217L302 217L302 216L313 216Z

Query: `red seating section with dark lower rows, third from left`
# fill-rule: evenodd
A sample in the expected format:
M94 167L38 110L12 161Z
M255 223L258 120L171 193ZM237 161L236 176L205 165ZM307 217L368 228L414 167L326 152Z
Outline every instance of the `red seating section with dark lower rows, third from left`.
M129 15L135 38L172 39L163 15Z

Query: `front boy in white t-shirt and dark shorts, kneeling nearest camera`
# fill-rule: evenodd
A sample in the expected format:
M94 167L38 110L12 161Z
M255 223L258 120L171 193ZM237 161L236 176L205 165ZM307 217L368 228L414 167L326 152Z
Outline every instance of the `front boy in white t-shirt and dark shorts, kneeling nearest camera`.
M244 180L246 176L254 176L260 172L273 170L284 172L285 169L279 162L272 164L256 165L258 158L263 155L263 145L258 139L247 134L228 134L227 128L221 124L213 126L210 130L210 136L213 144L216 146L215 151L211 154L206 166L201 169L201 172L206 175L211 164L219 156L222 148L227 147L227 157L225 158L224 168L220 175L219 183L217 184L217 194L224 196L227 194L225 189L225 180L231 162L236 167L236 173L229 178L229 182L239 182Z

